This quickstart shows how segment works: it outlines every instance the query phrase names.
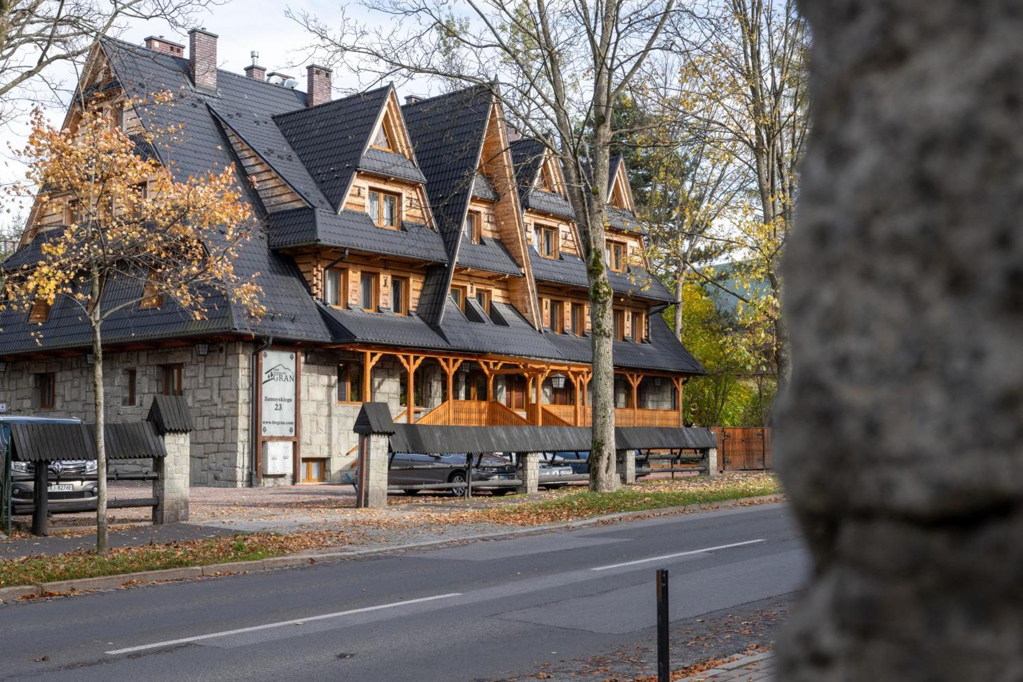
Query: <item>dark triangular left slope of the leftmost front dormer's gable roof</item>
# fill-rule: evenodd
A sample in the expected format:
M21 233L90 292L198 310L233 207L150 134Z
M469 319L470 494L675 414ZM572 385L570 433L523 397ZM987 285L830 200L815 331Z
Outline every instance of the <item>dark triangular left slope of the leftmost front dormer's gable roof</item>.
M309 174L340 211L393 86L273 117Z

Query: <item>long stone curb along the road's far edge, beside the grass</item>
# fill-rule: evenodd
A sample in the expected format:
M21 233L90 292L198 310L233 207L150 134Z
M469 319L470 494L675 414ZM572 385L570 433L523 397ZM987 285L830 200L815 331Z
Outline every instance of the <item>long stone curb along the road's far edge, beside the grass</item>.
M268 559L255 559L253 561L231 561L229 563L215 563L206 566L186 566L182 568L164 568L161 570L140 570L134 573L121 573L118 576L101 576L99 578L82 578L71 581L56 581L53 583L43 583L42 585L16 585L13 587L0 588L0 603L13 601L25 595L39 595L45 593L68 593L84 592L86 590L108 590L119 588L127 583L151 583L155 581L181 581L194 578L223 576L226 573L248 573L255 570L270 570L274 568L288 568L292 566L309 565L318 561L344 561L374 554L389 554L392 552L402 552L410 549L421 549L426 547L440 547L443 545L456 545L478 540L503 540L505 538L516 538L518 536L547 532L563 528L576 528L586 525L594 525L602 522L624 520L637 516L668 516L694 511L714 511L717 509L727 509L739 506L741 503L769 503L784 501L783 495L766 495L756 498L741 498L739 500L724 500L708 504L685 505L682 507L664 507L662 509L641 509L631 512L619 512L617 514L606 514L604 516L593 516L591 518L580 519L578 521L564 521L562 523L551 523L548 525L538 525L528 528L517 528L515 530L502 530L500 532L484 532L475 536L464 536L461 538L449 538L446 540L431 540L421 543L409 543L406 545L395 545L393 547L374 547L364 550L351 550L347 552L323 552L320 554L306 553L292 556L275 556Z

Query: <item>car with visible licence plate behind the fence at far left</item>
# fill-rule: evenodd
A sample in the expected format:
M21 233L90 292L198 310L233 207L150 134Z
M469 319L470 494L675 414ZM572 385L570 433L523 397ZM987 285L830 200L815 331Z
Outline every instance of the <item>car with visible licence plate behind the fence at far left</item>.
M18 415L0 416L0 453L6 455L10 443L10 425L13 423L37 424L80 424L77 419L55 419L52 417L29 417ZM71 453L69 453L71 454ZM11 500L32 502L35 494L36 465L32 462L11 462ZM95 460L59 460L47 467L50 482L47 486L48 500L91 500L96 497L98 483L76 476L96 473Z

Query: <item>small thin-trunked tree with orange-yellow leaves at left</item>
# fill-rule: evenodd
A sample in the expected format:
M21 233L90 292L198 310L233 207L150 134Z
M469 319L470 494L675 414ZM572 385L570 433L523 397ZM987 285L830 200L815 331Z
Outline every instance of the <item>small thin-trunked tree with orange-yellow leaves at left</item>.
M158 95L155 102L169 105L169 99ZM104 322L133 306L164 305L199 319L223 299L254 318L265 312L256 275L241 279L233 268L253 229L234 169L174 179L147 153L158 137L180 132L150 130L132 137L89 108L68 128L56 129L37 111L20 153L29 170L14 191L35 197L34 214L65 218L58 225L30 225L23 244L38 245L38 255L8 269L3 305L45 313L58 300L70 302L92 330L99 554L107 551ZM37 340L45 331L39 323Z

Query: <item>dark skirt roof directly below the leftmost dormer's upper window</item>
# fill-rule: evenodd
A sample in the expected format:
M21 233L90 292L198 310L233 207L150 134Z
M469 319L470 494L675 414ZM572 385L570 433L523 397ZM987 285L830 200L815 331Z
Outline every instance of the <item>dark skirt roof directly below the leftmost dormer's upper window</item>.
M374 225L363 211L344 210L339 214L301 208L271 213L266 221L273 249L321 245L447 262L440 235L417 222L406 221L401 229L390 229Z

